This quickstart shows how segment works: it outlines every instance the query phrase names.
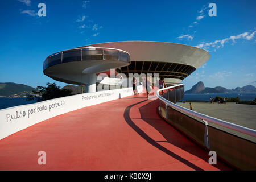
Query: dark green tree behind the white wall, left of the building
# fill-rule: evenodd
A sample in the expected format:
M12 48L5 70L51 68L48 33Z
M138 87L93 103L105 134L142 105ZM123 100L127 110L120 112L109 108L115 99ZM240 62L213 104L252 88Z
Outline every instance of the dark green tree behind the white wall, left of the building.
M59 98L59 97L65 97L65 96L71 96L72 90L68 89L60 89L60 86L57 86L55 83L47 83L47 87L44 86L38 86L36 87L36 90L33 91L34 94L39 94L38 101L46 101L53 98Z

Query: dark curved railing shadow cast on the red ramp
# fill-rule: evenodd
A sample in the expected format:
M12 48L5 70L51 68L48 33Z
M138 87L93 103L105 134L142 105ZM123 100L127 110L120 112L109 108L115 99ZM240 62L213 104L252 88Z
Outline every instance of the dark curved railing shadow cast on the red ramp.
M149 125L154 127L156 130L159 131L159 133L166 139L166 141L155 141L152 139L150 136L148 136L142 129L140 129L135 123L133 122L133 119L130 118L130 109L131 107L141 104L142 102L145 102L147 100L137 102L133 105L130 105L126 107L125 113L123 114L126 122L128 125L134 129L139 135L141 135L142 138L144 138L148 143L152 144L152 146L158 148L159 150L165 152L166 154L170 155L172 158L175 158L179 160L180 162L184 163L185 165L191 167L192 169L202 171L203 169L196 166L195 164L189 162L187 159L182 158L181 156L175 154L174 152L168 150L167 148L163 147L160 145L158 142L168 142L173 144L176 147L179 147L187 152L189 152L192 155L195 155L206 162L208 162L209 156L207 155L207 152L204 151L202 148L199 146L192 147L190 148L187 146L184 140L187 139L184 137L183 134L181 134L179 131L177 131L174 127L172 127L169 123L163 121L162 118L160 118L159 114L157 113L156 107L159 105L159 100L152 100L148 104L142 106L139 108L139 112L141 113L141 118L143 121L147 122ZM150 113L150 115L148 114ZM154 118L159 118L159 119L152 119ZM159 122L160 121L160 122ZM223 164L217 164L214 165L214 167L218 169L229 169L228 167L224 166Z

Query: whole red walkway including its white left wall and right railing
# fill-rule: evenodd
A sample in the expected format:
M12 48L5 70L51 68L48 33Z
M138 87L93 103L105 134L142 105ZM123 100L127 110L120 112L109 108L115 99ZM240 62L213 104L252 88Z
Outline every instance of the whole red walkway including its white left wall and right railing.
M142 86L134 96L122 88L0 110L0 170L256 168L255 142L209 123L254 138L255 130L176 105L183 84L154 88L150 99ZM209 164L209 151L217 164Z

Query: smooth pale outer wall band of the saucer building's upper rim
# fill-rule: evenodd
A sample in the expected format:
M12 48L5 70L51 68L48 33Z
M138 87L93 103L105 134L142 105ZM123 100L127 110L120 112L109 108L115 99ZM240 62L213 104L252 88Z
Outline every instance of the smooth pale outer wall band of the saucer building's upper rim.
M205 51L204 49L179 43L154 41L119 41L89 44L86 46L121 49L130 53L131 61L159 61L179 63L191 65L196 69L210 59L209 52Z

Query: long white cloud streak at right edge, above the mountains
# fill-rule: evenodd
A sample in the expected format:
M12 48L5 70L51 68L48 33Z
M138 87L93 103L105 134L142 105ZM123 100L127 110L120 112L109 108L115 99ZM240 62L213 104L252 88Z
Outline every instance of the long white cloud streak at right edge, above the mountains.
M201 43L201 44L198 44L195 47L202 48L202 49L208 49L209 47L213 47L214 51L216 51L220 47L224 47L224 45L226 43L228 43L229 40L232 40L233 43L236 43L236 41L235 41L236 39L251 40L251 39L253 39L255 32L256 31L252 32L251 34L249 32L244 32L242 34L232 35L229 38L225 38L225 39L221 39L221 40L215 40L215 41L210 42L210 43Z

